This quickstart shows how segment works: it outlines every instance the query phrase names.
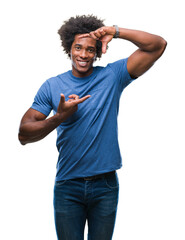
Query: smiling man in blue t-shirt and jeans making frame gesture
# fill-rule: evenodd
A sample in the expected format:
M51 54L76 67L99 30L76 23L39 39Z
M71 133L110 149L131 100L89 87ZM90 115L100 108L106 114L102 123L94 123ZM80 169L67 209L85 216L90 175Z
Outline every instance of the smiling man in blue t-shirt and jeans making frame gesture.
M59 240L112 239L118 203L121 155L117 114L123 89L163 54L166 41L156 35L118 26L94 16L77 16L58 31L72 70L48 79L22 118L19 140L41 140L57 128L54 187L55 225ZM128 58L93 67L113 38L134 43ZM47 118L53 110L54 115Z

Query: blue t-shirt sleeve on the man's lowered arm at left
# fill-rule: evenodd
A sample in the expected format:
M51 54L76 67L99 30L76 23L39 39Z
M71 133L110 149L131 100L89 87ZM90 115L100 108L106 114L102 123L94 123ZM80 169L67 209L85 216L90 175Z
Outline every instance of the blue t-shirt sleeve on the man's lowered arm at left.
M44 82L37 94L31 108L48 116L52 110L51 91L48 81Z

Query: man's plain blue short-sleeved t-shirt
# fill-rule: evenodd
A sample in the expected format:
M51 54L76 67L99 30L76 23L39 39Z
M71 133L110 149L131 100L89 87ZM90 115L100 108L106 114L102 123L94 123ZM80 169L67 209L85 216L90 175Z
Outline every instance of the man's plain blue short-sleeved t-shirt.
M91 95L57 127L57 181L121 168L117 115L121 93L132 81L127 59L122 59L94 67L88 77L75 77L70 70L43 83L31 108L46 116L57 112L61 93L66 101L71 94Z

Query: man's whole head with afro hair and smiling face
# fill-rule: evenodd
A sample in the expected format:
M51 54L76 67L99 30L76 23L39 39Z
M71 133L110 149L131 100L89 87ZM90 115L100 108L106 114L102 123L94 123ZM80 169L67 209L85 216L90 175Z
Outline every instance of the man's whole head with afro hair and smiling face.
M90 37L80 38L80 34L95 31L103 26L103 21L97 17L82 15L76 16L75 18L71 17L69 20L65 21L58 30L64 52L67 53L72 60L73 69L77 67L77 70L80 72L88 73L90 68L92 68L93 62L97 58L101 58L101 41L96 41ZM80 49L82 51L80 51Z

